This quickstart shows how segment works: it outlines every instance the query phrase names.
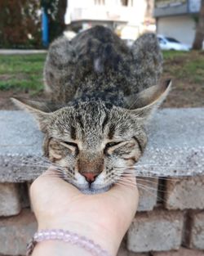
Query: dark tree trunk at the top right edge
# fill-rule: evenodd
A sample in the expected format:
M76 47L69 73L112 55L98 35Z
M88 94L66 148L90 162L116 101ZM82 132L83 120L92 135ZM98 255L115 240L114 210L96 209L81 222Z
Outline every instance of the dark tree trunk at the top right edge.
M204 40L204 0L201 0L201 8L198 16L196 35L193 42L193 50L202 50Z

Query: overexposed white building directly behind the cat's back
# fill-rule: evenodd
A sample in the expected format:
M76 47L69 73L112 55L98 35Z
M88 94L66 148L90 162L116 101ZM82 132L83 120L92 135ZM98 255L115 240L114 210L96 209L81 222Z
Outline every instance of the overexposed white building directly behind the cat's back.
M153 0L68 0L65 23L80 31L106 25L122 38L137 38L146 30L155 31Z

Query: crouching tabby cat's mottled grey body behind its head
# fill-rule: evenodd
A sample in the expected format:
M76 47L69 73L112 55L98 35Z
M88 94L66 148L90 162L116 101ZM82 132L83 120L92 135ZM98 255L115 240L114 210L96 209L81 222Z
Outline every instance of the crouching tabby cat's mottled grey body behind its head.
M124 106L124 97L158 83L162 54L154 34L144 34L132 48L110 29L96 26L71 42L51 44L44 70L53 101L68 103L100 98Z

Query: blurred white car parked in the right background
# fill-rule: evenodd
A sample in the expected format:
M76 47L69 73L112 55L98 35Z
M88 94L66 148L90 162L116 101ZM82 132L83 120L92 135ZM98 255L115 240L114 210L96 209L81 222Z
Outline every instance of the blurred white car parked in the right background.
M159 46L162 50L189 51L190 47L175 38L157 35Z

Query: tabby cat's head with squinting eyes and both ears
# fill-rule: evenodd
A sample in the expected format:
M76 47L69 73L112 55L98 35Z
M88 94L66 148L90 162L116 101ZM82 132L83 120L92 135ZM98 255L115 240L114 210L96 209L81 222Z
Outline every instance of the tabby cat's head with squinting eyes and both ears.
M51 111L40 102L13 99L45 133L44 154L61 177L86 192L104 191L134 166L147 143L144 124L165 99L171 82L126 97L126 107L78 101Z

